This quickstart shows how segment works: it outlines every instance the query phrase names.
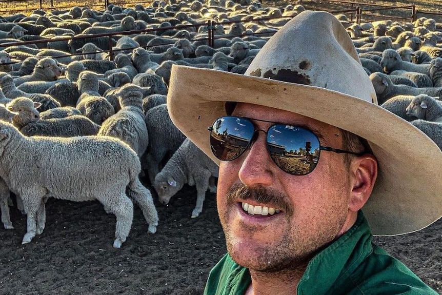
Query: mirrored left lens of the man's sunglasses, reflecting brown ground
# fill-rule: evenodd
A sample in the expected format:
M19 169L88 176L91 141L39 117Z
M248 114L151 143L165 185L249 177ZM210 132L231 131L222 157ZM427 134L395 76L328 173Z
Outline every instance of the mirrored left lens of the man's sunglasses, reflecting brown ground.
M221 161L238 158L249 145L254 131L249 120L233 116L220 117L212 128L210 146Z

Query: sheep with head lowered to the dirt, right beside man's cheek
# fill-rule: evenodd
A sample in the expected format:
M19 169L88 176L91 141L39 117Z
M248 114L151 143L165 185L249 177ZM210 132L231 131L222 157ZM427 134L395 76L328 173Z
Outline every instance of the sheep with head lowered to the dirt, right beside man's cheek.
M158 200L168 204L170 198L183 188L185 183L196 185L197 196L192 218L198 217L203 211L206 191L216 192L210 179L218 177L218 166L190 140L186 139L172 155L166 166L155 176L154 188Z

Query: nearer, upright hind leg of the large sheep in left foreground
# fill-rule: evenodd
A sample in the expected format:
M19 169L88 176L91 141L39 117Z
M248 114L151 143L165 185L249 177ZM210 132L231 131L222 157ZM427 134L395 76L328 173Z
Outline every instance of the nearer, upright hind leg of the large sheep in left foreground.
M107 196L107 198L99 199L109 212L115 214L115 241L114 248L120 248L126 241L129 235L130 227L133 220L133 204L132 201L123 193L119 193L116 198L115 195Z

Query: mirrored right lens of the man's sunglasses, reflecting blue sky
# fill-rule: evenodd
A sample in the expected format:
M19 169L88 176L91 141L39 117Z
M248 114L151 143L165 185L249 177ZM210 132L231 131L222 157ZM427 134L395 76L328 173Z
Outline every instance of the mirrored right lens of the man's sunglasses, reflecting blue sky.
M276 124L267 133L268 150L275 164L292 175L311 172L319 159L319 140L311 131Z

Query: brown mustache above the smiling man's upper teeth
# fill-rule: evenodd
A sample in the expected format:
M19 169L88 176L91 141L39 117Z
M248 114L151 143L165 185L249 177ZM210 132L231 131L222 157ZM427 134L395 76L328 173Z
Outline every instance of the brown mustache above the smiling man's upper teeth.
M287 195L269 190L263 186L251 188L244 184L232 185L226 193L226 201L227 203L235 203L238 202L238 199L268 204L270 207L281 209L289 215L293 214L293 207L288 201Z

